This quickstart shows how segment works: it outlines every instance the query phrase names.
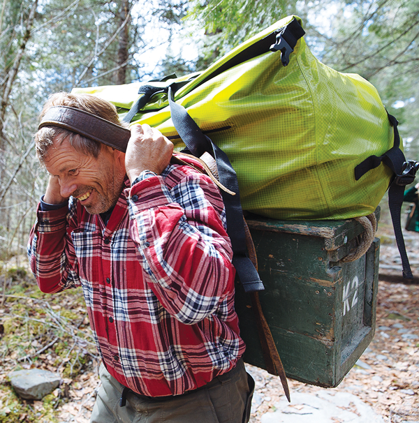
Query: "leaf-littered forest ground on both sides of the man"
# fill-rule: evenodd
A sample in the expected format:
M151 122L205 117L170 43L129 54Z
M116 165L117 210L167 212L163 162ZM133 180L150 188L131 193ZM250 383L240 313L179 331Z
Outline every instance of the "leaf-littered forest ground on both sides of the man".
M383 260L392 255L385 246L382 251ZM87 423L100 382L82 292L48 296L38 292L29 276L19 283L9 287L0 306L0 422ZM328 389L359 396L385 423L419 421L418 289L380 281L374 339L341 384ZM36 354L57 336L50 348ZM8 383L10 371L31 367L59 371L63 377L64 383L47 403L19 399ZM256 376L251 423L258 423L284 394L279 378L250 369ZM291 400L293 392L325 389L288 382Z

